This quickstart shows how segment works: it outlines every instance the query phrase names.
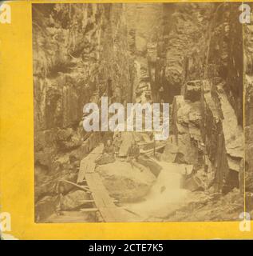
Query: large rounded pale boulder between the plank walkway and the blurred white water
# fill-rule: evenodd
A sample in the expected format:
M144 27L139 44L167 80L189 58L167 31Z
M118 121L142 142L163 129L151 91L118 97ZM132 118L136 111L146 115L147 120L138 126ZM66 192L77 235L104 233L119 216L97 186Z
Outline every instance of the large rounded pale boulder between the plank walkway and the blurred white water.
M148 194L156 177L148 168L142 170L120 161L97 167L110 196L120 202L135 202Z

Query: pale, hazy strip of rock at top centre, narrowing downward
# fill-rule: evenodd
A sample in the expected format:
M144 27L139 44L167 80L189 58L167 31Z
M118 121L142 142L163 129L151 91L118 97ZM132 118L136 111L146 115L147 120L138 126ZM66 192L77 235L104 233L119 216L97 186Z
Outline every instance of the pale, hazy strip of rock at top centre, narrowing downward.
M163 26L162 3L126 4L129 56L134 60L135 76L132 100L146 102L144 91L152 90L156 80L156 62Z

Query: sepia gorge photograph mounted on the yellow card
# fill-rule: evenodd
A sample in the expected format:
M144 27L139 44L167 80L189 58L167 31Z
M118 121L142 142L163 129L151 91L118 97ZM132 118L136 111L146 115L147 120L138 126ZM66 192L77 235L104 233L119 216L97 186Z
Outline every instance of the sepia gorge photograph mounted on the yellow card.
M32 4L35 222L253 213L253 26L240 5Z

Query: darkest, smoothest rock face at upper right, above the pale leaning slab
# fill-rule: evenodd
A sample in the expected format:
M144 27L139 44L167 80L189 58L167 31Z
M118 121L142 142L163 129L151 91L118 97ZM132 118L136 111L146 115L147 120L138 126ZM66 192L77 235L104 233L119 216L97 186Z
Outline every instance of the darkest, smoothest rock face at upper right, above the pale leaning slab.
M211 24L208 50L210 77L223 78L224 90L243 125L243 26L238 19L239 4L217 3Z

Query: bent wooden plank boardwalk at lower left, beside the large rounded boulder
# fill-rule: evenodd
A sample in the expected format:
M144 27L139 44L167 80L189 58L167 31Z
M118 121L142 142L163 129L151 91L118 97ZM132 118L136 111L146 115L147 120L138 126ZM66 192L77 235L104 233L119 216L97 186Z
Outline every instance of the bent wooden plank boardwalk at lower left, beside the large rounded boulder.
M125 210L116 206L113 198L109 196L108 191L102 183L100 175L95 172L95 160L101 155L103 146L97 146L86 158L81 160L80 170L77 177L77 183L87 182L89 190L92 193L94 209L101 213L105 222L127 222ZM85 210L85 209L84 209Z

